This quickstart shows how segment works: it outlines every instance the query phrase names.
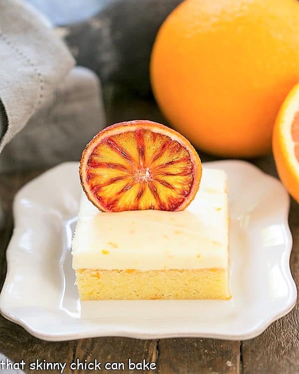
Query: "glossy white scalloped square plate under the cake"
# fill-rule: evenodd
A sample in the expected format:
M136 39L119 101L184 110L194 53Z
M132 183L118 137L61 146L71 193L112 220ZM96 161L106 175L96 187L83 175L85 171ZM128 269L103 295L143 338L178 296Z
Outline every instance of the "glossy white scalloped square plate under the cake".
M289 196L242 161L204 167L228 175L232 299L80 303L70 244L78 211L78 163L61 164L22 187L7 249L0 312L32 335L59 341L99 336L253 338L294 306Z

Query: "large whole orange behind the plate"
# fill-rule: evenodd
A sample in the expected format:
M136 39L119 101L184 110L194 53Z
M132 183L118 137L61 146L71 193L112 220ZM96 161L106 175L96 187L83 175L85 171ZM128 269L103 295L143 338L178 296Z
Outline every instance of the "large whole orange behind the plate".
M150 76L161 111L201 150L270 152L277 112L299 81L299 1L183 1L158 31Z

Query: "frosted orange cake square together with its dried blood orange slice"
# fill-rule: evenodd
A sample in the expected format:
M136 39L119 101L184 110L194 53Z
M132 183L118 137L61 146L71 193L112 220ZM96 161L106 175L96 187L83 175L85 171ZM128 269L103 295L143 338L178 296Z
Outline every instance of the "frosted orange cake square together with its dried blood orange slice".
M137 122L143 130L132 134ZM96 136L81 159L72 242L80 299L230 298L225 173L201 178L182 136L130 124L121 137L109 128L108 140Z

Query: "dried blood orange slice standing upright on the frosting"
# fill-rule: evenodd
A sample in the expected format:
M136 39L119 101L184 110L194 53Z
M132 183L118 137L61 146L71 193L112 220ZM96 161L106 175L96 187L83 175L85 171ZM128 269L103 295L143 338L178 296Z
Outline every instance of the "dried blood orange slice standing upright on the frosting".
M80 178L103 211L182 210L198 190L201 162L176 131L150 121L122 122L86 146Z

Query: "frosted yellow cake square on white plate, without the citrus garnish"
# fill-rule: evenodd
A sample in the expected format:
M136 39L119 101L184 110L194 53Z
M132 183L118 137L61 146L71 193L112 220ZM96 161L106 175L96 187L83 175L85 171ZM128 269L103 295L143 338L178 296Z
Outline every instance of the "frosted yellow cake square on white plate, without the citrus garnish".
M225 174L204 169L179 212L101 212L82 193L72 248L81 300L228 299Z

